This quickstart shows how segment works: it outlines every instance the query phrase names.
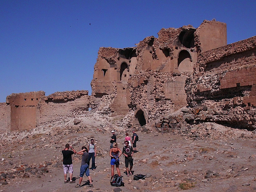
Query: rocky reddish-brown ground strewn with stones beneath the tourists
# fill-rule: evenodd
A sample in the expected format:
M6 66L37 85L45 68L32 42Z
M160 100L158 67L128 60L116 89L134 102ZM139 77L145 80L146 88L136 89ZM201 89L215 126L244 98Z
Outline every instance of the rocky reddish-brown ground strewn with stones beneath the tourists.
M159 133L148 125L139 129L138 151L134 155L134 174L147 175L145 180L126 176L121 156L124 187L110 185L109 140L116 130L119 147L123 147L125 132L118 118L101 118L97 114L80 114L40 126L34 130L1 131L0 191L1 192L70 192L93 191L193 191L193 192L252 192L256 191L256 133L236 130L214 123L195 125L192 137L182 131ZM74 125L76 124L76 125ZM188 131L187 131L188 132ZM207 133L207 134L205 134ZM190 135L190 136L189 136ZM73 155L76 183L64 184L61 150L66 143L77 151L90 138L97 146L96 170L90 170L93 188L84 177L78 183L81 157ZM1 161L2 160L2 161Z

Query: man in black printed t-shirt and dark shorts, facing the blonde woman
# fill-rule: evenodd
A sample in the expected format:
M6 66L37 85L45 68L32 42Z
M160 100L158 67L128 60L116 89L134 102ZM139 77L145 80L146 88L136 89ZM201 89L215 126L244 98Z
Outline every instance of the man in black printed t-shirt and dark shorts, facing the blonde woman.
M128 141L125 141L125 146L123 147L123 151L122 151L123 155L125 156L125 167L126 167L126 175L132 175L132 167L133 167L133 149L132 147L129 145ZM130 171L128 169L128 166L130 164Z

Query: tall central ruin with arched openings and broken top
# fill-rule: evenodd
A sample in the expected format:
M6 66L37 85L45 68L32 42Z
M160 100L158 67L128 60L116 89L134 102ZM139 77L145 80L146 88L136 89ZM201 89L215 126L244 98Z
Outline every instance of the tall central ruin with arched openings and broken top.
M162 113L187 106L185 80L197 62L198 47L201 52L207 44L206 33L211 45L204 50L227 44L226 25L204 21L198 29L191 25L163 28L158 38L146 37L134 48L100 48L91 82L92 96L115 94L108 105L109 114L133 112L133 125L141 124L138 116L147 123ZM95 102L93 106L98 107Z

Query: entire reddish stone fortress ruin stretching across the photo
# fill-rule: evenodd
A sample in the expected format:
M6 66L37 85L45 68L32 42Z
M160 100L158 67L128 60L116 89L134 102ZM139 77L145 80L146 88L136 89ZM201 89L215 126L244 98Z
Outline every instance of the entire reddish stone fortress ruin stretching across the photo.
M128 128L156 122L157 130L170 131L178 123L208 121L255 130L255 55L256 36L227 45L223 22L163 28L158 38L146 37L136 47L101 47L92 95L88 91L48 97L44 92L12 94L0 105L0 125L10 130L34 128L90 107L102 116L124 117ZM182 107L186 118L168 116Z

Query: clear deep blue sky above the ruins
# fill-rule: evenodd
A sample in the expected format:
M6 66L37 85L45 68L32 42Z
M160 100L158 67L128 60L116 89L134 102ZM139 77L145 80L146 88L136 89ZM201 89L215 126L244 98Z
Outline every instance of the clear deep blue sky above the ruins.
M205 19L227 23L228 44L255 36L256 1L0 0L0 102L40 90L90 94L100 47L134 47Z

